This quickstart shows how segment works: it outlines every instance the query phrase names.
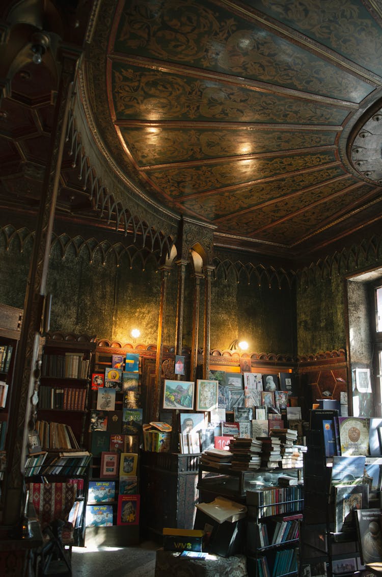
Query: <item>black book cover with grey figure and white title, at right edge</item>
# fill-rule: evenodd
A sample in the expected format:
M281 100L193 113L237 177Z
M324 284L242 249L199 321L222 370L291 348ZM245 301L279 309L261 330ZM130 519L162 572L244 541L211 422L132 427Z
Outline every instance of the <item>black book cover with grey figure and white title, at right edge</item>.
M360 509L357 511L356 523L362 564L381 561L381 509Z

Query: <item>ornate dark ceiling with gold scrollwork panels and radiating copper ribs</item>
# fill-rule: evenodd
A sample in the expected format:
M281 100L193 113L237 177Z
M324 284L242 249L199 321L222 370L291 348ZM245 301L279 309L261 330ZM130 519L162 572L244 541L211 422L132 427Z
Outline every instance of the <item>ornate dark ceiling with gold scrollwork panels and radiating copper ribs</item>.
M381 24L378 0L100 2L81 70L94 145L219 246L307 258L366 237L382 217ZM2 101L3 207L18 189L37 201L44 73L24 67ZM64 163L58 213L96 224L87 202Z

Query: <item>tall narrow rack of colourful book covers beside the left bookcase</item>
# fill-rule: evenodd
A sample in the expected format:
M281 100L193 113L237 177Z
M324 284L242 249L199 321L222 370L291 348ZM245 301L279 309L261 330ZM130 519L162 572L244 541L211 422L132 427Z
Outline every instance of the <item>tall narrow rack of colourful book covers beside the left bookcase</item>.
M92 367L86 544L102 533L109 545L139 542L138 460L143 409L139 354L96 351Z

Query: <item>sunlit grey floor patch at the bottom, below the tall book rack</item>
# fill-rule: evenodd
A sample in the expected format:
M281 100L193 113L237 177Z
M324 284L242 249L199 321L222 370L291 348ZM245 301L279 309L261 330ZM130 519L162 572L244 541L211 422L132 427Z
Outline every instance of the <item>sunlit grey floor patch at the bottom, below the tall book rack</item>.
M73 547L73 577L154 577L156 542L117 547Z

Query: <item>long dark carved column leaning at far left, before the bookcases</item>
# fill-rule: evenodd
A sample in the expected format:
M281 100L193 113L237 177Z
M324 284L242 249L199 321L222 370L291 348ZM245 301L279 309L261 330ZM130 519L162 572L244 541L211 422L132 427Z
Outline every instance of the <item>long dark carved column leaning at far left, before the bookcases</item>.
M71 83L79 52L62 51L62 70L56 100L54 128L50 145L50 159L41 190L35 242L29 267L24 301L20 342L14 365L13 387L10 396L9 425L7 430L7 469L3 482L3 518L7 526L17 526L24 509L24 466L28 452L28 423L32 404L36 404L33 373L39 366L41 319L48 272L48 259L54 221L56 198L65 143L65 128L69 113Z

